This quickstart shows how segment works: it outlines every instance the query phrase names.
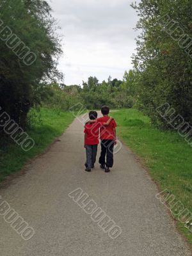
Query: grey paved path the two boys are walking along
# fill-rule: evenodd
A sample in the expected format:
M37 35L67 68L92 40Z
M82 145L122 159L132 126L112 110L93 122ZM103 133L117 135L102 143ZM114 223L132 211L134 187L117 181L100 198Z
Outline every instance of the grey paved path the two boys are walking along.
M111 173L84 172L83 125L74 120L44 155L0 194L31 227L24 241L0 216L1 256L188 256L184 239L155 197L157 188L123 147ZM111 239L68 197L82 188L117 225Z

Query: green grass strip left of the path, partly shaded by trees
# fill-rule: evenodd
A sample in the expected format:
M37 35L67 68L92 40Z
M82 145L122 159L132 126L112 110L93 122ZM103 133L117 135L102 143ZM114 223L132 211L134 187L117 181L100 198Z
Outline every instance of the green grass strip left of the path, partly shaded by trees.
M52 109L42 108L40 110L41 123L33 124L27 132L33 140L35 147L29 152L24 152L21 147L13 141L5 143L0 141L0 182L6 176L19 171L24 164L44 150L62 134L74 117L69 112L54 111Z

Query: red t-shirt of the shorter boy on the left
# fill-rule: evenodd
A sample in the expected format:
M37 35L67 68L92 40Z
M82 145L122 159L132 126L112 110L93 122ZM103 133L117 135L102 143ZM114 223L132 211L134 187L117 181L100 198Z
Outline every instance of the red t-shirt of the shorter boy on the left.
M103 122L97 122L94 124L86 124L84 133L86 138L84 141L85 145L97 145L99 144L99 129L102 127Z

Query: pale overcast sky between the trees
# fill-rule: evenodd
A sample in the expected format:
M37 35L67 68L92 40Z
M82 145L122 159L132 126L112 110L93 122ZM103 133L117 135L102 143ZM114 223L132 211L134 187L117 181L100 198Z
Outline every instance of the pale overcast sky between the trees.
M132 0L51 0L59 20L64 55L59 69L65 84L82 84L89 76L100 81L122 79L132 67L138 17Z

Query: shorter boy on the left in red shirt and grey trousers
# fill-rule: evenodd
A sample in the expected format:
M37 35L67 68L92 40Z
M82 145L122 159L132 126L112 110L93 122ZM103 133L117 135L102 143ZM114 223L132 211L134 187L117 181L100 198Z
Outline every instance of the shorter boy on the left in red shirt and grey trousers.
M86 166L86 172L91 172L91 169L94 168L99 144L99 129L109 125L112 120L109 117L106 122L95 122L97 119L96 111L90 111L89 117L93 123L87 123L84 127L84 147L86 148L86 163L84 165Z

